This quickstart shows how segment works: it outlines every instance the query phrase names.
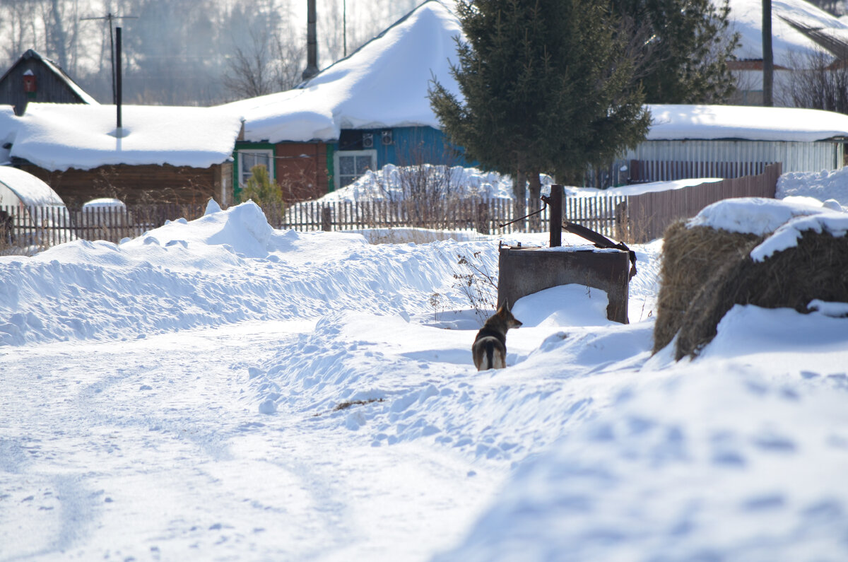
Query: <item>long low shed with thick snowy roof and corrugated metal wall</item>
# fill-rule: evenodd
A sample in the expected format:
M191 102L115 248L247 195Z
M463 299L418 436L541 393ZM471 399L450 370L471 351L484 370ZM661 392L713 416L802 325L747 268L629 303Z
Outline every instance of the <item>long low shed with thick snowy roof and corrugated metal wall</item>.
M685 177L740 177L780 162L783 171L844 165L848 115L832 111L734 105L648 106L644 142L617 160L630 183Z

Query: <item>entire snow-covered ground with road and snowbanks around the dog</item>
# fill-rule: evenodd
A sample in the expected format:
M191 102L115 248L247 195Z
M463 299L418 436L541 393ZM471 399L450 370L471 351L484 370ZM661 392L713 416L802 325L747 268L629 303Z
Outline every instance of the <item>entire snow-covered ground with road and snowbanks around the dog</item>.
M848 318L738 306L651 357L657 240L629 324L530 295L478 373L455 275L498 243L246 203L0 258L0 560L848 559Z

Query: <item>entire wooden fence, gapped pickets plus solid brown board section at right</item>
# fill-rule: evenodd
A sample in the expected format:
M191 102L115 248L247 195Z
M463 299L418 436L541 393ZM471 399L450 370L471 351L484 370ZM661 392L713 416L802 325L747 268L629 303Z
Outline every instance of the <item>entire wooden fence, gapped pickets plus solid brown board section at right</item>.
M565 197L563 219L611 239L647 242L661 237L673 221L695 216L717 200L774 197L781 167L775 164L758 176L658 193ZM73 239L118 243L168 221L192 221L204 210L205 205L128 205L126 209L95 208L85 212L69 212L55 206L0 206L0 250L15 253L15 248L24 248L31 253ZM305 201L287 207L266 206L264 212L272 227L300 231L397 227L474 230L484 234L550 231L549 209L537 217L520 218L510 200ZM4 216L8 218L4 220Z

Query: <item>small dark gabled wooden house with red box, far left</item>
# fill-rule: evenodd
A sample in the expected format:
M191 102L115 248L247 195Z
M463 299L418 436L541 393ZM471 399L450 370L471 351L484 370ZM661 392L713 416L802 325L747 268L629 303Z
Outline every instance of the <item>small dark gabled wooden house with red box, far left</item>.
M0 78L0 104L12 105L24 115L31 102L97 105L59 65L29 49Z

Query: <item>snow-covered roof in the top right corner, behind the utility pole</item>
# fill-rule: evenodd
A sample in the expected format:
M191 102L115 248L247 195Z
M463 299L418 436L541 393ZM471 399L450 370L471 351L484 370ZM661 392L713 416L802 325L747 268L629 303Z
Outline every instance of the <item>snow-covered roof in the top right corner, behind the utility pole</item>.
M762 0L730 0L731 31L739 31L738 59L762 59ZM823 30L829 37L844 37L848 23L804 0L772 0L772 51L774 64L792 68L793 54L801 58L821 50L789 22Z

